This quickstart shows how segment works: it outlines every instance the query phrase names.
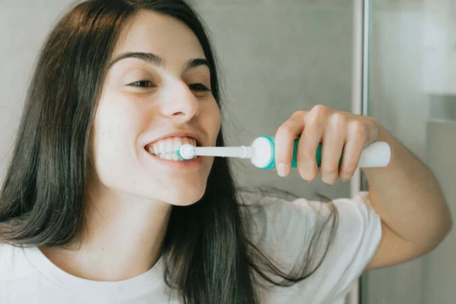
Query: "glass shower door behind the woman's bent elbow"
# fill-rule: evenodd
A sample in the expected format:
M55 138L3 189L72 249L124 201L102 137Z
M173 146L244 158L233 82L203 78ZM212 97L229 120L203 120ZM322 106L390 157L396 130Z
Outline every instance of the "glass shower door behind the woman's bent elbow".
M366 102L436 175L456 211L456 0L366 0ZM363 179L362 188L367 189ZM365 273L362 304L454 304L456 232L431 253Z

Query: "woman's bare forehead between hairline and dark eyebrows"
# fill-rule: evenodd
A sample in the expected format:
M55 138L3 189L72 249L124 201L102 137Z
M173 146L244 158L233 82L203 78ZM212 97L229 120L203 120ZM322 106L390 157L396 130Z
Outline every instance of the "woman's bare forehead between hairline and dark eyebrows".
M205 58L197 36L185 23L145 10L124 26L112 57L126 52L152 53L165 61Z

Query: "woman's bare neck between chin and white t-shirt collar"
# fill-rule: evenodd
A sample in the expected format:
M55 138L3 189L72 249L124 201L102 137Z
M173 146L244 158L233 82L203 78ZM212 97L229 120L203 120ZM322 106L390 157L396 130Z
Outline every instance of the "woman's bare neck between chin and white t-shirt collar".
M63 271L88 280L120 281L145 273L161 256L172 205L98 191L86 206L81 247L40 246Z

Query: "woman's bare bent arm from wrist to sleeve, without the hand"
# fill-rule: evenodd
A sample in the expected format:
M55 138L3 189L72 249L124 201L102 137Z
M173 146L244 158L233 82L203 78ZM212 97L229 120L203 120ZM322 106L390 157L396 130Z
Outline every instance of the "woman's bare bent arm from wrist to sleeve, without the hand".
M434 249L452 228L434 174L377 123L377 141L391 147L385 168L362 168L372 207L382 219L382 241L366 270L397 264Z

